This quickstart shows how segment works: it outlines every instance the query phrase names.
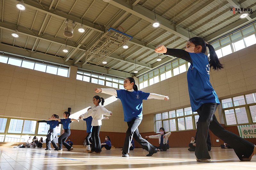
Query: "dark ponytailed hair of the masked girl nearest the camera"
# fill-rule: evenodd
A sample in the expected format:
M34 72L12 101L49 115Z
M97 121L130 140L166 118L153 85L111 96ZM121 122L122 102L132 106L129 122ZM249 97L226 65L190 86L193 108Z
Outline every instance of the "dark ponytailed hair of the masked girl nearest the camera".
M210 56L208 57L210 67L212 67L214 70L223 69L223 64L220 63L220 60L219 60L214 48L212 47L212 45L205 44L205 41L200 37L193 37L193 38L190 38L188 41L195 44L195 46L201 46L202 53L205 53L206 47L208 47L209 51L210 51Z

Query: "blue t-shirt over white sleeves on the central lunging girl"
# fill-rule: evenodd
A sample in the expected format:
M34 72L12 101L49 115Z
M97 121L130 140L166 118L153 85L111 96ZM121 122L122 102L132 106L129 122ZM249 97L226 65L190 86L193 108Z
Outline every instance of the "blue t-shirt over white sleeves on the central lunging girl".
M116 90L117 98L121 100L124 109L124 121L132 119L142 120L142 100L147 100L149 93L142 91L129 92L127 90Z

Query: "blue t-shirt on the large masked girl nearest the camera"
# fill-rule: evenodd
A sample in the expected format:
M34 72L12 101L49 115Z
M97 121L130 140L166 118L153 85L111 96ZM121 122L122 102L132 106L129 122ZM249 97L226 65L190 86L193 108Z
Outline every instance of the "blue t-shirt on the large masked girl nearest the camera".
M195 112L204 103L220 101L210 83L210 65L204 53L189 53L192 63L188 68L188 92L192 111Z

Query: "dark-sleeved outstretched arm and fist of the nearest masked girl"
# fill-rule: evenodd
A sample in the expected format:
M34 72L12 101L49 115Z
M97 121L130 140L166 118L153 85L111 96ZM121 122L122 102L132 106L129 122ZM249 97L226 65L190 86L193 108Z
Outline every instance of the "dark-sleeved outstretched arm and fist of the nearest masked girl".
M164 45L159 45L155 49L156 53L163 53L164 55L172 55L192 64L189 53L183 49L166 48Z

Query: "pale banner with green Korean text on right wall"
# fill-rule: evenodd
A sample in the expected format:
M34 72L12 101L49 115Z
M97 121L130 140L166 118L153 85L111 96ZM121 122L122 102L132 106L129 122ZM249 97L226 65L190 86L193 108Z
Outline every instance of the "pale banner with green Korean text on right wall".
M256 124L238 125L239 135L242 138L256 138Z

